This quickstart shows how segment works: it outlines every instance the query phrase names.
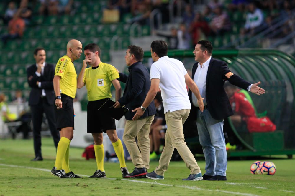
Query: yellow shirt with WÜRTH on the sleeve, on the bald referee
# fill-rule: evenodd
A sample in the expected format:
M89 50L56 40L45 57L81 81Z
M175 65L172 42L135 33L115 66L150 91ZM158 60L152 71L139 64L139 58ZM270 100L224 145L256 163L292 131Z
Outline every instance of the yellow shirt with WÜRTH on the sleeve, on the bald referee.
M75 98L77 91L77 73L71 58L68 56L60 57L55 67L55 76L60 76L61 93Z

